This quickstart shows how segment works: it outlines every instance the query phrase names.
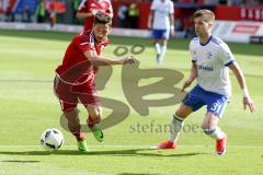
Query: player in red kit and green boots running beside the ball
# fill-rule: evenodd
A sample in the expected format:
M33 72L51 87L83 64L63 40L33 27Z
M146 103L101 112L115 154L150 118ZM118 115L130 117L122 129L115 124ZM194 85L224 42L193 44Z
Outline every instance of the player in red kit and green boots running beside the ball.
M101 56L102 49L108 44L111 25L112 18L108 14L96 13L93 30L73 37L62 63L56 69L54 90L80 151L88 151L88 148L79 124L78 102L83 104L89 113L87 122L94 137L98 141L103 141L103 132L96 125L101 121L101 107L94 81L99 66L134 65L136 61L133 56L118 59Z

